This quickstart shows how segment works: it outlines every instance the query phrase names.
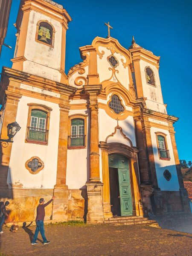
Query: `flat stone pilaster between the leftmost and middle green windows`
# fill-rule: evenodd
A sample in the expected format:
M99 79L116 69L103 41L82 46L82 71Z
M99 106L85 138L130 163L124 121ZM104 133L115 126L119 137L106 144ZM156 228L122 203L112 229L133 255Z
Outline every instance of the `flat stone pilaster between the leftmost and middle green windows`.
M60 84L58 84L60 85ZM63 84L64 85L64 84ZM67 140L68 140L68 116L69 116L69 96L76 89L70 86L62 88L60 99L60 121L59 121L59 139L58 139L58 158L57 158L57 176L54 186L52 219L57 221L67 221L68 207L68 186L66 185L67 172Z

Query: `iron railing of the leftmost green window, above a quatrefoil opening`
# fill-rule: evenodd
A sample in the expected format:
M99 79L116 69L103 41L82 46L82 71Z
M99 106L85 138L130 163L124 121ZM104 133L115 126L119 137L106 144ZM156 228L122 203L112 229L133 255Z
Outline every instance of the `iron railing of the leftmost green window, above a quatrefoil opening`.
M48 130L35 128L35 127L28 127L27 132L27 139L28 140L38 140L47 142L48 138Z

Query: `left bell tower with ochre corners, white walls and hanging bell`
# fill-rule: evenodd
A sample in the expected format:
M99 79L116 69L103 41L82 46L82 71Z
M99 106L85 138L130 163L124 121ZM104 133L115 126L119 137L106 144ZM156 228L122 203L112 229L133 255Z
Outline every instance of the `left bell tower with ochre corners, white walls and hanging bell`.
M70 15L52 0L21 0L12 68L65 82L66 31Z

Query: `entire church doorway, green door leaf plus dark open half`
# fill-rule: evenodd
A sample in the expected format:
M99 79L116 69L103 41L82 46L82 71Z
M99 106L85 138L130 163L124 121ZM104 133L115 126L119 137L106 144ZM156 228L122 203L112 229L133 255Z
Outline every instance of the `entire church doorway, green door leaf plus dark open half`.
M110 203L113 215L133 215L128 158L109 155Z

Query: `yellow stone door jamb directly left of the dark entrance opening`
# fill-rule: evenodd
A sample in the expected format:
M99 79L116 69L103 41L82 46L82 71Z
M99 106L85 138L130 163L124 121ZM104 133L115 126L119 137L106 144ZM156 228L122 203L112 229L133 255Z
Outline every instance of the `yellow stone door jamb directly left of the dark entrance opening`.
M103 181L103 213L105 218L112 218L110 204L110 186L109 186L109 162L108 148L109 146L104 141L100 141L102 150L102 181Z

